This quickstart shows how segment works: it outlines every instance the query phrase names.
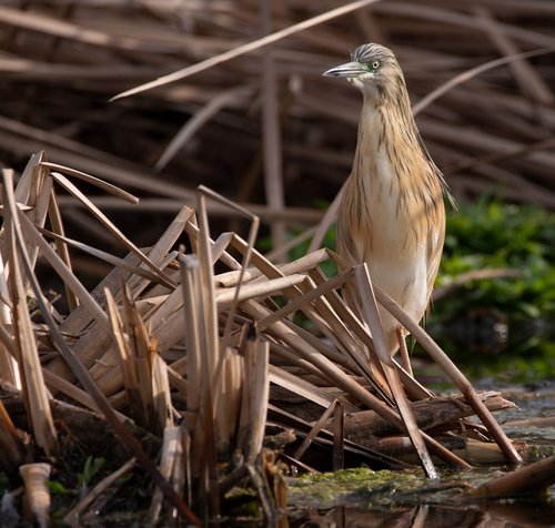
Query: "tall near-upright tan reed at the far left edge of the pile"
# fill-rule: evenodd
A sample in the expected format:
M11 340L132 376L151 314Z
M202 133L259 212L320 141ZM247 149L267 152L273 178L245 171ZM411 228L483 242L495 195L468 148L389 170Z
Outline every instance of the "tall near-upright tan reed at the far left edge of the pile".
M39 349L27 307L27 291L23 290L20 268L22 262L23 268L27 270L27 280L31 281L32 264L19 223L18 212L20 211L13 195L13 172L11 170L2 171L2 202L6 207L4 223L8 234L8 257L10 263L8 281L12 301L13 343L18 353L17 359L21 372L26 412L32 425L37 444L48 456L53 456L57 447L56 429L48 400L47 386L42 377ZM26 216L23 217L29 222ZM37 292L36 295L38 295ZM41 309L46 311L48 308L43 305Z

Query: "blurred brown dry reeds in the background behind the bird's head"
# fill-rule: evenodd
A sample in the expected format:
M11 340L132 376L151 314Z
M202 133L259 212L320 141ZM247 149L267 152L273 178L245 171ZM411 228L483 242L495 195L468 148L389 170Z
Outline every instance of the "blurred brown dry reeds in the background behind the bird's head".
M352 163L359 95L320 73L373 40L398 55L424 140L460 201L501 189L555 206L551 6L287 0L259 10L253 0L2 7L4 165L47 149L141 194L134 211L150 217L193 206L204 184L273 226L279 250L285 231L321 217L313 200L331 201ZM158 88L107 103L143 83ZM65 193L59 203L84 206Z

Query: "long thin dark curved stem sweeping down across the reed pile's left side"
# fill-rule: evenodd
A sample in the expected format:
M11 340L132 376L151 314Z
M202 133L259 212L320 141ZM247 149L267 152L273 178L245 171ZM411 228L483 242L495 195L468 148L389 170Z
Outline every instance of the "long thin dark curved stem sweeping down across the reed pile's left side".
M199 525L199 519L183 502L183 500L181 500L181 498L175 494L170 484L160 475L155 464L149 458L147 453L143 450L141 443L137 440L133 435L131 435L125 425L120 420L114 409L108 403L105 396L102 394L102 392L98 388L98 386L90 377L90 374L87 370L87 368L84 368L81 362L73 355L73 352L58 332L56 323L52 316L50 315L50 312L48 311L47 302L42 295L40 285L27 258L23 258L23 267L30 278L31 287L34 292L37 303L39 304L39 307L42 312L44 322L47 323L47 326L50 329L50 337L52 339L52 343L54 344L58 352L65 359L69 367L78 378L79 383L89 393L89 395L92 396L100 412L104 415L105 419L110 423L110 425L113 427L118 436L121 438L123 446L125 446L125 448L137 458L139 465L150 475L150 477L154 480L157 486L162 489L165 499L172 506L174 506L180 512L180 515L184 517L189 522L193 525Z

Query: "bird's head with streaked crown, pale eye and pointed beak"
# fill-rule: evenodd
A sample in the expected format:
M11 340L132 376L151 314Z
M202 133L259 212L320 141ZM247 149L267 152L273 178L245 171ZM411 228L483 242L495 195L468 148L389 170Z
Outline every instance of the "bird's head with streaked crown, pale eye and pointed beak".
M404 78L393 52L373 42L356 48L351 62L340 64L323 73L342 77L364 94L381 95L389 89L404 87Z

